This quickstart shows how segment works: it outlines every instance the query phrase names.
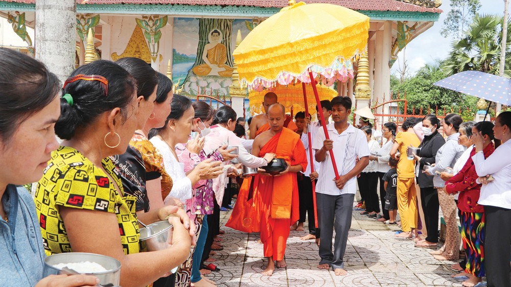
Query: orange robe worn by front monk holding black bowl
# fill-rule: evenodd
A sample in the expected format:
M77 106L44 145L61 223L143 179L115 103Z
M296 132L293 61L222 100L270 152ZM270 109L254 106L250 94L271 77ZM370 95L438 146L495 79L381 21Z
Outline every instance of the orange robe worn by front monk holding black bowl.
M261 149L260 157L274 152L277 158L291 165L307 168L307 154L300 136L283 128ZM251 179L246 179L240 188L238 201L226 226L248 232L261 232L264 256L273 260L284 259L289 227L299 219L298 184L296 173L281 176L257 174L253 177L253 197L248 198Z

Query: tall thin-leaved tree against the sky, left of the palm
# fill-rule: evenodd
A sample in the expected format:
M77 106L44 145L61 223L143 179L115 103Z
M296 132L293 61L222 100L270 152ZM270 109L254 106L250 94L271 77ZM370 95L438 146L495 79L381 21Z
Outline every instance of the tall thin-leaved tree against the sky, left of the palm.
M479 0L451 0L451 11L447 13L440 34L444 37L460 38L464 27L481 8Z

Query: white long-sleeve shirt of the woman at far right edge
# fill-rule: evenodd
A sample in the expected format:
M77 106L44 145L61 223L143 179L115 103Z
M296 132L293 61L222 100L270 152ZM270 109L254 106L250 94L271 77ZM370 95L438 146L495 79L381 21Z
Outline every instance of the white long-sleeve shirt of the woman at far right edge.
M511 209L511 140L506 141L484 159L482 152L472 157L478 176L492 175L495 179L483 184L479 195L480 205Z

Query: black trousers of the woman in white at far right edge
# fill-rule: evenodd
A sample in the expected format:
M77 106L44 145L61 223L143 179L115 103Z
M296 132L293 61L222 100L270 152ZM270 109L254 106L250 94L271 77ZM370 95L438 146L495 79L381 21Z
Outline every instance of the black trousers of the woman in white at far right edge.
M484 264L489 287L511 286L511 209L484 206Z

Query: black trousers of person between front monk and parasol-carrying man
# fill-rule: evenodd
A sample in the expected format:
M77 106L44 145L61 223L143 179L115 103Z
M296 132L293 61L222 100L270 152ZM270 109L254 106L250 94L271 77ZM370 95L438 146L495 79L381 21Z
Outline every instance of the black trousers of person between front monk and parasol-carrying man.
M296 173L298 182L298 200L300 202L300 219L298 222L305 222L309 215L309 233L316 235L316 225L314 223L314 201L312 198L312 182L309 176L299 172Z

